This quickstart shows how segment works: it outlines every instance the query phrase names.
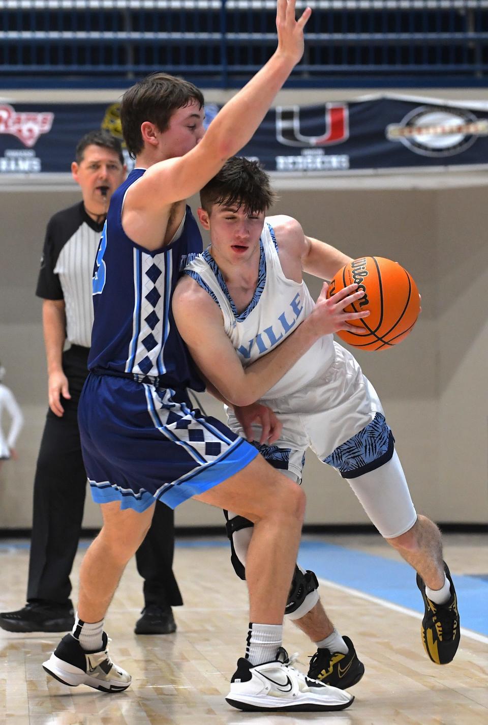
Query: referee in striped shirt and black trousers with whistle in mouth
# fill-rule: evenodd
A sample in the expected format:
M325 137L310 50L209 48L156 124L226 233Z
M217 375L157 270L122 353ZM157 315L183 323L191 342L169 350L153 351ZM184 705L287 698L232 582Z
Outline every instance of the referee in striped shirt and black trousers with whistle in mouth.
M8 631L67 631L75 621L70 573L86 492L77 405L88 375L93 262L110 198L125 179L120 142L107 131L87 133L71 170L83 201L49 220L36 289L43 299L49 410L35 471L28 602L0 614L0 627ZM63 352L66 341L70 348ZM171 607L183 602L172 571L173 550L174 514L157 502L136 554L145 602L136 634L176 629Z

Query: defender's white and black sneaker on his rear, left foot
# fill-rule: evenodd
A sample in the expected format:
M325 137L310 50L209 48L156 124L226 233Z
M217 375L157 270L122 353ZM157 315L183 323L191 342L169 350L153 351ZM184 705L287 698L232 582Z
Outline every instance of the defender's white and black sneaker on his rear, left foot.
M72 634L65 634L43 668L63 684L101 689L102 692L122 692L132 678L122 667L114 665L106 651L109 642L105 632L101 650L86 652Z

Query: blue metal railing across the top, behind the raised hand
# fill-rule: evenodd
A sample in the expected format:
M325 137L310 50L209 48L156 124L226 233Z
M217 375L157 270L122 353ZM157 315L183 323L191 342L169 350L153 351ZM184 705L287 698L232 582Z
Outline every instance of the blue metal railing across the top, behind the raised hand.
M488 0L298 0L313 9L293 78L488 73ZM152 70L227 86L276 46L274 0L0 0L2 78L123 80Z

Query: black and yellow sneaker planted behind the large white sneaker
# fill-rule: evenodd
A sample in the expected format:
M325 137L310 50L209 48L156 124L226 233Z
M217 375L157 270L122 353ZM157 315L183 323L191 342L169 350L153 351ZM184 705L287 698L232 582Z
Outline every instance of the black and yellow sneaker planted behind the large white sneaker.
M359 682L364 674L364 665L358 660L353 642L349 637L342 637L342 639L348 645L348 653L331 652L319 647L310 660L308 677L339 689L353 687L353 684Z

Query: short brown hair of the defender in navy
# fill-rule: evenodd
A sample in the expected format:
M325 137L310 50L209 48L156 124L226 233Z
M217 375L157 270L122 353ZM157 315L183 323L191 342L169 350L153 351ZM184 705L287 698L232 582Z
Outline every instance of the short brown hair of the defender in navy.
M151 73L135 83L122 96L120 120L125 144L134 159L143 150L140 126L151 121L162 132L167 130L172 112L197 101L203 107L203 94L193 83L167 73Z

